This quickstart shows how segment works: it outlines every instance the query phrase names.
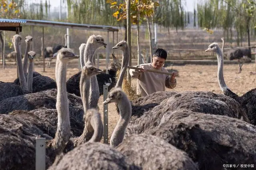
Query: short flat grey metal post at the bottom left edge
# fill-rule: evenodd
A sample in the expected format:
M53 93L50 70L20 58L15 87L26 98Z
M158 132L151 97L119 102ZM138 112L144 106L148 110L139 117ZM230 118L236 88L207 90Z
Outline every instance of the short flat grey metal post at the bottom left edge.
M45 138L36 138L36 170L45 170Z

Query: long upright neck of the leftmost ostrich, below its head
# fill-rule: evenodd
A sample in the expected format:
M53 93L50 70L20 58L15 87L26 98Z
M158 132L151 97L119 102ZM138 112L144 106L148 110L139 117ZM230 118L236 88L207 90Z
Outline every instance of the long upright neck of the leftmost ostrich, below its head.
M24 71L23 71L23 67L22 67L20 46L19 46L18 42L14 42L14 49L15 49L15 52L16 52L16 60L17 60L19 78L20 78L20 86L21 86L22 90L28 91L28 85L27 85L26 78L25 78Z

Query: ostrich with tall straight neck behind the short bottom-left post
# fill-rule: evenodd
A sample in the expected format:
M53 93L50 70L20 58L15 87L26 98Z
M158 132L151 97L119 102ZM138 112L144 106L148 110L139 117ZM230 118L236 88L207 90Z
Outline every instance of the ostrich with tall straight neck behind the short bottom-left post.
M66 94L66 66L67 62L74 59L75 55L70 49L59 51L57 60L59 60L57 86L58 93L56 98L56 109L58 111L58 127L54 139L46 141L46 168L52 164L55 156L62 152L70 137L70 122L68 98ZM11 117L11 115L1 115L2 117ZM3 121L3 119L0 119ZM18 124L8 128L9 123L0 123L2 135L0 147L0 169L35 169L35 139L36 130L31 129L30 124ZM6 163L10 162L10 163ZM20 168L22 167L22 168Z

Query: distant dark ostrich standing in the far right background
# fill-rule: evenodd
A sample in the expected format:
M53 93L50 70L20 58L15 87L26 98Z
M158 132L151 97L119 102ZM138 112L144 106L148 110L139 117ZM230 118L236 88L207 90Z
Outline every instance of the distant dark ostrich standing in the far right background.
M238 59L239 70L237 73L240 73L242 71L242 65L246 61L249 61L249 62L252 61L252 53L250 49L247 49L244 47L237 47L235 49L232 49L231 51L228 52L227 56L229 60Z

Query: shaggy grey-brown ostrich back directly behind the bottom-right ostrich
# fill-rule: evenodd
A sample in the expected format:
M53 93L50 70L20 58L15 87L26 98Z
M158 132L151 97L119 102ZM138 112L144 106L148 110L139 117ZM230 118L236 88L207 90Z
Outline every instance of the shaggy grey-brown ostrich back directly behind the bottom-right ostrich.
M190 111L226 115L248 121L248 117L240 104L234 99L213 92L181 92L164 100L160 105L144 113L126 128L126 136L143 133L159 125L160 120L168 111L188 109Z

